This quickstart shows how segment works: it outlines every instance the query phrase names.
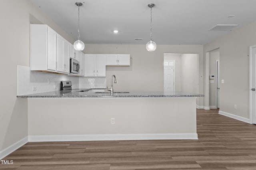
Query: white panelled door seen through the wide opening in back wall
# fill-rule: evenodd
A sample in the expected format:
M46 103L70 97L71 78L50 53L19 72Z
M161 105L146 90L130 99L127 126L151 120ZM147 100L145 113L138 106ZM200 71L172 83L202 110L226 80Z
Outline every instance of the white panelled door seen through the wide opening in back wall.
M164 67L164 91L174 92L174 67Z

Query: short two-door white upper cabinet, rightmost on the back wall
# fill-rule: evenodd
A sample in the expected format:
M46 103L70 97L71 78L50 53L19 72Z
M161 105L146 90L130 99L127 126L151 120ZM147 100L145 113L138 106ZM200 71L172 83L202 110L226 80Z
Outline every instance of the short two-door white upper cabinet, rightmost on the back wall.
M106 54L106 65L130 66L130 54Z

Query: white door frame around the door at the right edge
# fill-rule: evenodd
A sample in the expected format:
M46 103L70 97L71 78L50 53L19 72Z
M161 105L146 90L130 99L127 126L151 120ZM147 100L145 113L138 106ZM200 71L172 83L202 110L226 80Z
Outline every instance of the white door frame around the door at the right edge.
M256 45L252 45L250 46L250 61L249 61L249 68L250 68L250 73L249 73L249 77L250 77L250 82L249 82L249 96L250 96L250 102L249 102L249 107L250 107L250 124L252 123L252 48L256 47Z

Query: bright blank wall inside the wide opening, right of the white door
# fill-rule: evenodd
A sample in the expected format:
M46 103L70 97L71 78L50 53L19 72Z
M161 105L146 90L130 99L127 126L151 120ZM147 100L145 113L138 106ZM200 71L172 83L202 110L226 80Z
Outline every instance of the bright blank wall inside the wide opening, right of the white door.
M197 54L181 55L181 91L199 93L197 57Z

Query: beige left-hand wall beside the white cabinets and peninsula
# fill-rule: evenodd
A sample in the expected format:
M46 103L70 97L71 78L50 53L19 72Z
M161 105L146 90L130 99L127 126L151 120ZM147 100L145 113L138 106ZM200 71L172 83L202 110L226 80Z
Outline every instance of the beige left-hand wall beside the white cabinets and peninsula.
M30 63L30 22L48 24L70 42L74 40L28 0L1 0L0 3L1 152L28 135L27 100L17 99L16 95L17 65Z

